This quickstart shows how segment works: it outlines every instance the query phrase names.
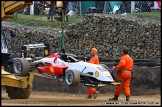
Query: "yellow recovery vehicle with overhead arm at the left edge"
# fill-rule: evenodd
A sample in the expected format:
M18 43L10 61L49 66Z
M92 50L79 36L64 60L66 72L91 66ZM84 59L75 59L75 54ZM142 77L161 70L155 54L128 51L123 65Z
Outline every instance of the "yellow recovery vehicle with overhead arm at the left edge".
M33 1L1 1L1 21L7 18L13 18L14 12L29 6ZM10 31L11 37L14 36ZM23 68L24 74L15 75L6 69L6 61L9 60L8 44L5 35L5 30L1 27L1 85L5 86L8 97L11 99L27 99L32 91L32 82L34 74L27 72L27 68ZM27 62L20 58L23 64Z

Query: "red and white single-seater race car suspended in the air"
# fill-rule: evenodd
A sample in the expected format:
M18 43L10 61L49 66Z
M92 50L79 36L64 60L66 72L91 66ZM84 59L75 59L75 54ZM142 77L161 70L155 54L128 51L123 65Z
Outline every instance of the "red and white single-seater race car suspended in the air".
M115 81L106 65L84 62L73 54L53 53L41 59L13 58L8 62L12 62L12 72L16 74L27 75L29 72L36 72L46 77L63 79L68 86L78 86L79 83L92 87L120 84Z

